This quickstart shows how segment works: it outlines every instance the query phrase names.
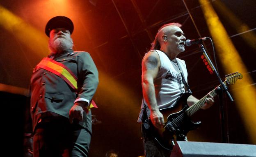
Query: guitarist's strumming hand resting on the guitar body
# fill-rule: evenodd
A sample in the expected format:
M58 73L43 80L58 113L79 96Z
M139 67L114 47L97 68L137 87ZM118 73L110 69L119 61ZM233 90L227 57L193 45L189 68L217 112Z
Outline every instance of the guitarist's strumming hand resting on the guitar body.
M156 128L162 128L165 125L164 116L159 110L151 110L150 119Z

